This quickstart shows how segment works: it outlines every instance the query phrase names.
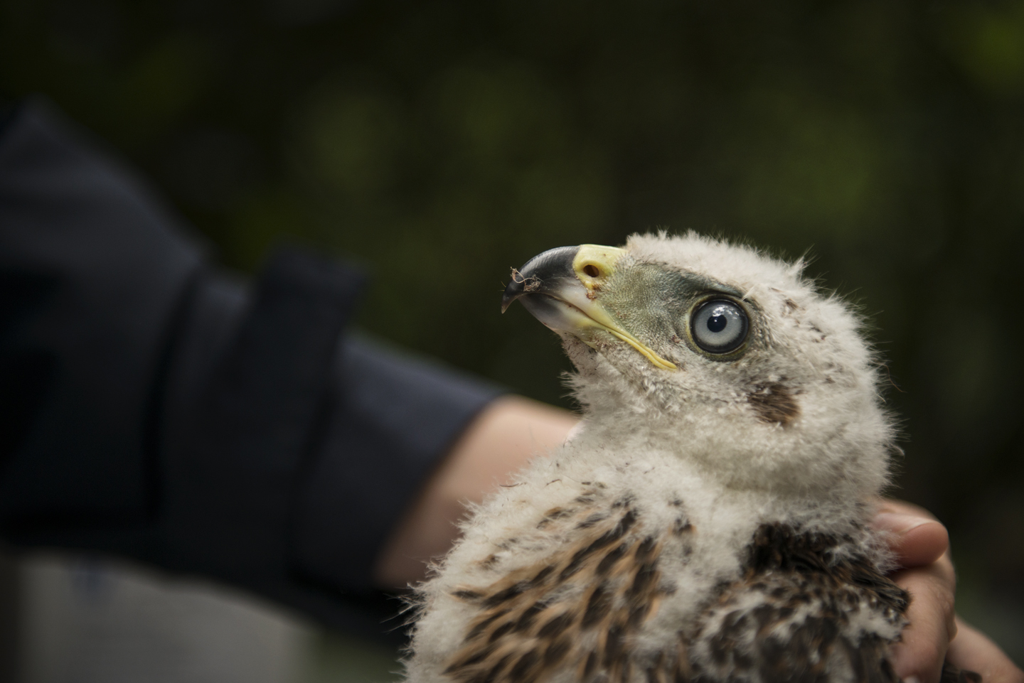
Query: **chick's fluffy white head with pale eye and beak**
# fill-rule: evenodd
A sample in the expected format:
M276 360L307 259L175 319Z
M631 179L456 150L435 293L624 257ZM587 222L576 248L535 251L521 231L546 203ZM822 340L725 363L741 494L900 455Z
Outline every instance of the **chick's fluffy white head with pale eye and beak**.
M726 484L807 493L883 485L891 421L859 321L784 263L688 233L544 252L513 270L563 339L585 433L662 449Z

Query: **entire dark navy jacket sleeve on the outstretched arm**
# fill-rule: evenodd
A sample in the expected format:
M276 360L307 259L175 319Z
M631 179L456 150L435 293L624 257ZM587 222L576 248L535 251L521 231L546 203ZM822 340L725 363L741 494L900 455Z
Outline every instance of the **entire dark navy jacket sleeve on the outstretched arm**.
M497 390L344 330L362 285L287 252L248 289L38 103L0 131L0 533L381 631L374 559Z

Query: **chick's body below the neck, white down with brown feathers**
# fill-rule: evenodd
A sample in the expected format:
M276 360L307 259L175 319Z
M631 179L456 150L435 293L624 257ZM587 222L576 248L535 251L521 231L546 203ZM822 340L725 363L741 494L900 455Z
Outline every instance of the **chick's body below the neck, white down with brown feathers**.
M868 535L779 512L671 457L536 462L476 511L423 588L410 677L895 681L886 655L906 595L876 567Z

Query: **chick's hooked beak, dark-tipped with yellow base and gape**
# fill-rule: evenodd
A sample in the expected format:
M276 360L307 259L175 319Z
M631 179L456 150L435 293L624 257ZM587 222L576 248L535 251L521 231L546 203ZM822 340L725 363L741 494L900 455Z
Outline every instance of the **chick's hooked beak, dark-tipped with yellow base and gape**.
M517 299L534 317L555 332L578 337L594 348L594 333L604 331L628 343L662 370L675 370L653 349L625 330L597 302L601 285L615 271L626 250L601 245L559 247L512 269L502 296L502 312Z

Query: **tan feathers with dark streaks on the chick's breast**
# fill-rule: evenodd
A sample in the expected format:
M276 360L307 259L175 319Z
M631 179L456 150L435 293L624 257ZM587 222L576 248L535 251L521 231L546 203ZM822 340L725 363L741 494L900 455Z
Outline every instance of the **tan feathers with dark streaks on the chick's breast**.
M671 590L658 569L664 542L642 530L628 499L603 510L593 496L574 504L549 510L538 523L571 530L571 546L489 586L453 594L479 607L444 671L454 681L534 683L574 671L580 681L625 683L643 673L631 638ZM684 520L678 526L689 530ZM677 658L663 657L645 678L671 681Z

